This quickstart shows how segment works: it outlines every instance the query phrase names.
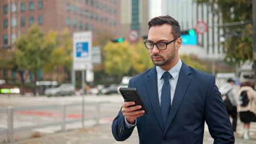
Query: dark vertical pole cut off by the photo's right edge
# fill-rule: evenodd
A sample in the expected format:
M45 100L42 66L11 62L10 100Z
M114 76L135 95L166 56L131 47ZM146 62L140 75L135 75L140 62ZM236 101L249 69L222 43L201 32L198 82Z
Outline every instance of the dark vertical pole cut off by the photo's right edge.
M253 69L254 89L256 88L256 0L253 1Z

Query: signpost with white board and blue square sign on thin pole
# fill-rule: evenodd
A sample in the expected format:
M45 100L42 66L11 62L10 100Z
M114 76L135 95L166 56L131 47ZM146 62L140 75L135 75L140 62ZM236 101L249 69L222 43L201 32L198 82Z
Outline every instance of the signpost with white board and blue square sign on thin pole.
M72 82L75 83L75 70L82 70L82 127L84 127L84 93L85 70L92 70L92 33L91 31L77 32L73 34L73 74Z

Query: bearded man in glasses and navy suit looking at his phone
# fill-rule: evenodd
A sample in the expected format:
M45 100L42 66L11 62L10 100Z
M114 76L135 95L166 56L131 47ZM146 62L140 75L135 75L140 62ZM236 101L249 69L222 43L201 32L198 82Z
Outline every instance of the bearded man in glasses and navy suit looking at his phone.
M189 67L178 56L181 27L171 16L148 23L144 41L155 65L129 81L148 109L124 102L112 124L117 141L126 140L135 126L139 143L199 144L205 122L214 143L234 143L234 134L215 77Z

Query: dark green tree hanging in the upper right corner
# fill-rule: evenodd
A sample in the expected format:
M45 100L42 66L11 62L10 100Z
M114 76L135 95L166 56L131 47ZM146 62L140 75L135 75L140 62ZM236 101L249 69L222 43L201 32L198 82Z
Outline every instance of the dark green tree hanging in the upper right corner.
M210 1L197 0L198 4L210 4L215 13L220 13L223 23L252 20L252 1L225 0ZM218 7L214 7L218 5ZM252 22L246 25L223 27L225 42L223 49L226 53L224 61L229 64L240 64L248 59L252 61L253 52L253 29Z

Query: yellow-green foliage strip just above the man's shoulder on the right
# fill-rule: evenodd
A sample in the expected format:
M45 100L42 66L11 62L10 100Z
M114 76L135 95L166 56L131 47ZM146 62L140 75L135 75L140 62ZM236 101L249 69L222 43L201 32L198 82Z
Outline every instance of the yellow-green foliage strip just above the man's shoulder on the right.
M190 67L193 67L197 70L201 70L204 72L207 72L206 65L202 65L198 60L196 59L191 59L190 56L188 55L179 55L179 57L182 59L184 63L189 65Z

